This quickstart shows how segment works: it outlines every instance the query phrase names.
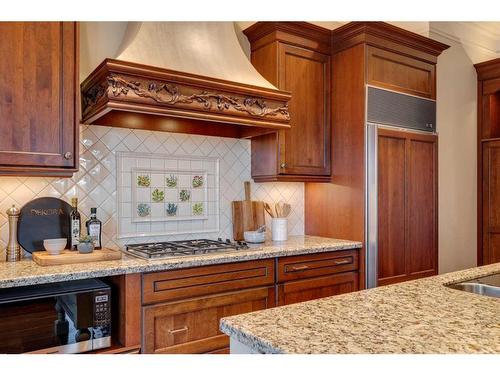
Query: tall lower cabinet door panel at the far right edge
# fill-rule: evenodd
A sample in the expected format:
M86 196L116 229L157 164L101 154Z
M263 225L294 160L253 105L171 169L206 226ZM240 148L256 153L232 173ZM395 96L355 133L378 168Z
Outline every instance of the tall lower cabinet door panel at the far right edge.
M500 141L483 143L483 264L500 262Z

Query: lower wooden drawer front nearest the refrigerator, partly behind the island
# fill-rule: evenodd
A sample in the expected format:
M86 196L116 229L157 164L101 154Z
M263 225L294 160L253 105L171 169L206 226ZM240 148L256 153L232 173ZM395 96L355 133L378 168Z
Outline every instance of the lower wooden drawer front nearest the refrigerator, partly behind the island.
M279 284L278 305L355 292L358 290L358 277L357 272L346 272Z

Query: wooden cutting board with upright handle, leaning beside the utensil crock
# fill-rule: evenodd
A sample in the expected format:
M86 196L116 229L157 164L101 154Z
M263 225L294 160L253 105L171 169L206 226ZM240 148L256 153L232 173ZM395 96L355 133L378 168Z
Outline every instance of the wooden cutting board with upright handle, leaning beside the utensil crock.
M233 201L233 238L243 241L243 232L265 225L264 202L251 200L250 182L245 181L245 200Z

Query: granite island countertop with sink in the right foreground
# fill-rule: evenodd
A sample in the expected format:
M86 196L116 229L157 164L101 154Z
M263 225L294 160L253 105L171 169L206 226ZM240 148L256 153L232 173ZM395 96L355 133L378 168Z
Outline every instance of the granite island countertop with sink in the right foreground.
M500 263L224 318L261 353L500 353L500 299L445 284Z

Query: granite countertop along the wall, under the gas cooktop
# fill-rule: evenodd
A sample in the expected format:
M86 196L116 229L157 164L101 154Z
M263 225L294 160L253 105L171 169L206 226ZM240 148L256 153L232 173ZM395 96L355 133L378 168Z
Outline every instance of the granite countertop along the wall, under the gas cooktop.
M16 263L1 262L0 288L338 251L360 248L362 244L361 242L333 238L291 236L288 241L284 242L266 241L260 245L250 246L251 248L248 250L239 250L233 253L185 256L162 260L144 260L124 255L121 260L44 267L37 265L31 259L24 259Z

